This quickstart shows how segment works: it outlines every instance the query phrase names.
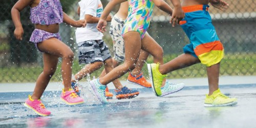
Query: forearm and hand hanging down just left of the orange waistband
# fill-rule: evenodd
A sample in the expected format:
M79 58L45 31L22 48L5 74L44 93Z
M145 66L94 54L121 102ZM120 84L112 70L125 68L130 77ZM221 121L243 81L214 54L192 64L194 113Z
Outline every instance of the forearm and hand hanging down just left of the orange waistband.
M174 5L173 15L172 18L170 18L170 24L173 24L174 27L175 24L180 23L180 20L182 20L185 17L185 14L181 8L179 0L170 0L170 2L172 2Z

